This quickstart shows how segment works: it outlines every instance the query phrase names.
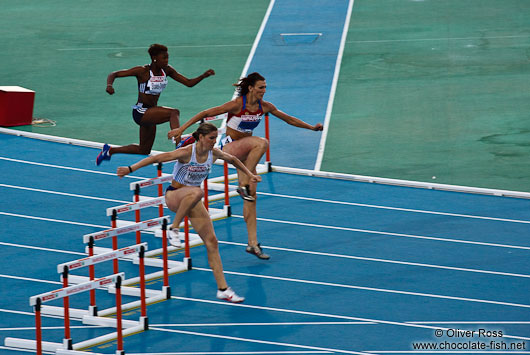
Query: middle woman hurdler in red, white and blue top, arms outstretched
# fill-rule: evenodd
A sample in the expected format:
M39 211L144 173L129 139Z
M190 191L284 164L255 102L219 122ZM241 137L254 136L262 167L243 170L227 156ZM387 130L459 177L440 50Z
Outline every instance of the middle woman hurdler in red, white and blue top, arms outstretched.
M252 136L252 131L261 121L261 117L270 112L279 119L296 127L321 131L322 124L311 125L296 117L278 110L272 103L264 101L267 88L265 78L258 73L249 74L236 84L239 97L221 106L209 108L193 116L182 127L172 129L168 137L175 137L177 142L182 133L195 122L206 117L228 113L226 137L223 139L223 151L238 157L245 166L256 173L256 166L267 151L269 142L261 137ZM243 215L247 223L248 246L246 251L260 259L269 259L258 243L256 226L256 184L238 169L239 193L243 197Z

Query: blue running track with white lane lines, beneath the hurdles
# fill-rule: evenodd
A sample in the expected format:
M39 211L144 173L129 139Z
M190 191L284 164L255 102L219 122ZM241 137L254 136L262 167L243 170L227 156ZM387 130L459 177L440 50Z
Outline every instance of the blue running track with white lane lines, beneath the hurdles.
M56 265L80 258L82 235L109 225L105 209L130 201L140 174L156 173L118 179L116 167L137 157L96 169L96 150L71 145L0 135L0 148L9 172L0 181L0 336L33 338L28 298L59 288ZM234 216L214 227L227 280L245 303L215 299L204 247L192 248L193 270L171 276L172 299L148 307L151 329L125 338L128 354L392 353L455 342L434 329L456 327L505 334L474 341L528 346L528 200L269 173L259 186L258 232L270 261L244 252L242 202L231 202ZM134 244L134 234L119 244ZM120 270L135 276L137 267L120 262ZM114 302L103 291L98 300ZM44 340L62 341L59 320L44 325L59 327ZM72 325L80 327L74 343L110 332ZM115 344L91 350L113 353Z

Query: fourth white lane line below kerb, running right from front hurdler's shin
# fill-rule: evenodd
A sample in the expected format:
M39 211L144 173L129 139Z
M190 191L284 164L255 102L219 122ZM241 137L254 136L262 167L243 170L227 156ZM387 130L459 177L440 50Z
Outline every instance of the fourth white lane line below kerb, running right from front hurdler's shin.
M193 267L193 270L207 271L207 272L211 272L212 271L211 269L200 268L200 267L196 267L196 266ZM346 285L346 284L339 284L339 283L333 283L333 282L322 282L322 281L310 281L310 280L302 280L302 279L293 279L293 278L290 278L290 277L255 275L255 274L248 274L248 273L244 273L244 272L235 272L235 271L227 271L227 270L224 270L224 273L225 274L230 274L230 275L237 275L237 276L255 277L255 278L260 278L260 279L287 281L287 282L318 285L318 286L329 286L329 287L346 288L346 289L353 289L353 290L392 293L392 294L399 294L399 295L406 295L406 296L439 298L439 299L453 300L453 301L476 302L476 303L486 303L486 304L493 304L493 305L500 305L500 306L530 308L530 305L528 305L528 304L501 302L501 301L490 301L490 300L483 300L483 299L478 299L478 298L444 296L444 295L437 295L437 294L434 294L434 293L423 293L423 292L399 291L399 290L391 290L391 289L384 289L384 288L356 286L356 285Z

